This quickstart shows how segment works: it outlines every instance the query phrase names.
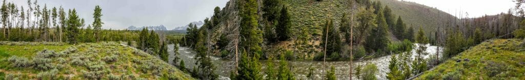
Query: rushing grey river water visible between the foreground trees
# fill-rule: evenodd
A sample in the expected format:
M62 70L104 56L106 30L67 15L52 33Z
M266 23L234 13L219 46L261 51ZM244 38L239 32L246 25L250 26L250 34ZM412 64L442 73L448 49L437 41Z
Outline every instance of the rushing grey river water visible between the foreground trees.
M424 57L428 58L429 55L435 55L437 46L430 46L430 45L426 45L426 46L428 47L426 49L426 52L428 53L428 55L425 55ZM169 63L171 64L173 63L172 60L174 58L173 44L168 45L168 47L169 47L168 52L170 53ZM415 47L417 47L417 45ZM439 49L440 49L439 53L441 54L443 52L443 48L440 47ZM178 57L184 60L186 68L193 68L195 66L195 59L193 59L196 53L195 51L193 51L191 48L180 47L178 49L178 52L180 54L178 55ZM416 56L415 49L413 49L412 58L414 58L415 56ZM377 79L386 79L386 73L390 72L390 70L388 69L388 64L390 64L389 63L390 58L391 58L391 55L377 57L373 59L366 59L363 61L354 61L352 67L355 68L358 65L363 65L364 67L364 65L366 65L367 63L375 64L377 68L379 69L379 73L376 75ZM230 74L229 71L231 70L231 67L235 65L233 63L233 60L223 59L223 58L213 57L213 56L212 56L212 59L216 67L215 73L219 75L219 79L229 79L228 78ZM268 61L259 61L259 62L262 63L262 67L264 70L264 68L266 67L266 63ZM278 63L278 61L271 61L271 62ZM309 79L306 77L306 75L308 74L308 68L310 68L310 66L314 68L314 79L322 79L321 77L323 77L323 75L325 74L325 72L323 71L322 61L311 61L311 60L288 61L288 65L293 66L293 73L296 75L297 79ZM330 69L330 66L335 67L335 75L337 76L338 79L349 79L350 61L327 61L325 65L326 67L324 68L327 69L327 71ZM275 66L278 66L278 64L276 64ZM355 79L356 77L353 77L353 78Z

